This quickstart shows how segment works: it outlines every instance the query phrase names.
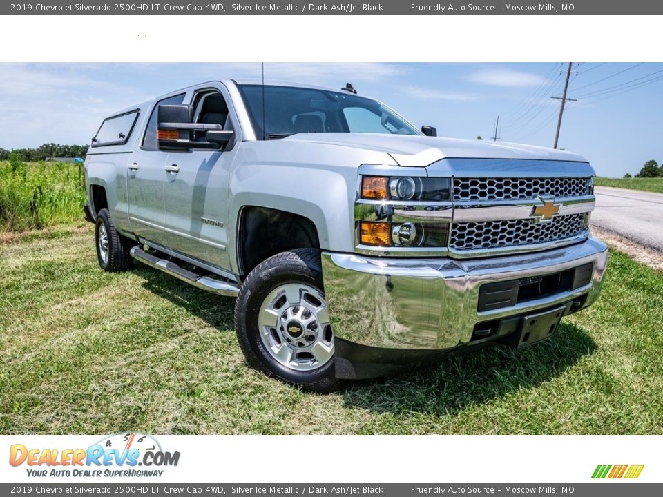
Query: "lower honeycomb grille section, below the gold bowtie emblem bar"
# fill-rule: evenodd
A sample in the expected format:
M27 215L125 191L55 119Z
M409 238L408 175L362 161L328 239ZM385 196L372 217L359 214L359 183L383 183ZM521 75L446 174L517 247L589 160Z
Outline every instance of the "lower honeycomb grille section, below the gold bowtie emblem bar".
M550 222L504 220L452 224L450 248L460 251L555 242L580 235L586 213L559 215Z

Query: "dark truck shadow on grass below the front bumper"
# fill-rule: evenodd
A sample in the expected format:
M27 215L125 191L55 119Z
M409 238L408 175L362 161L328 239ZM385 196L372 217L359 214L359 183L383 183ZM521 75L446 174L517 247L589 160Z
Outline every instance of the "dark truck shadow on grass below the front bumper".
M345 405L450 416L553 380L597 349L581 327L563 323L552 338L527 349L497 345L392 378L355 384L344 393Z

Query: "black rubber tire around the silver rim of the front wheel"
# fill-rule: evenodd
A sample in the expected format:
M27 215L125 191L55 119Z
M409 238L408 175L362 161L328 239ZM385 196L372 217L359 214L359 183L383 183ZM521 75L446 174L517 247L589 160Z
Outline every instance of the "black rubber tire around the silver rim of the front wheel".
M306 284L324 295L320 251L296 249L269 257L260 263L240 288L235 304L235 327L240 347L251 367L302 390L330 393L342 380L336 378L334 357L313 371L297 371L280 364L260 338L258 315L267 295L282 284Z

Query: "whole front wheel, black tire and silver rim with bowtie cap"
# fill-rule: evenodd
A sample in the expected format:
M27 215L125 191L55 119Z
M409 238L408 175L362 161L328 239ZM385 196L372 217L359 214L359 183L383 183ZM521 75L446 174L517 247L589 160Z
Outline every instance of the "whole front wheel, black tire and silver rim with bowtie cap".
M307 391L340 387L320 251L282 252L253 269L240 289L235 324L251 366Z

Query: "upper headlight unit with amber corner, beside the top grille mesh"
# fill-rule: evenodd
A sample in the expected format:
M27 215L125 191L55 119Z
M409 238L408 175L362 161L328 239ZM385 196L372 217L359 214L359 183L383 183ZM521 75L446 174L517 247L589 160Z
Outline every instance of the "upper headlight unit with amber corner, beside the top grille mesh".
M361 179L361 198L445 202L451 199L451 179L364 176Z

